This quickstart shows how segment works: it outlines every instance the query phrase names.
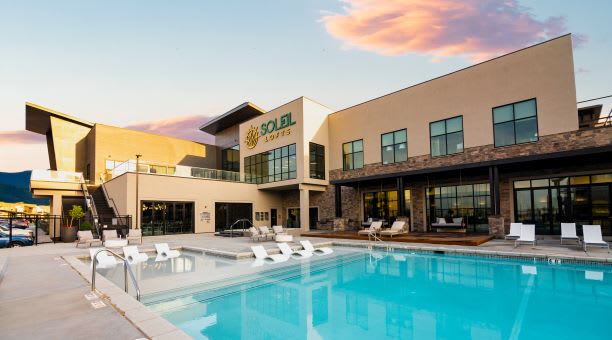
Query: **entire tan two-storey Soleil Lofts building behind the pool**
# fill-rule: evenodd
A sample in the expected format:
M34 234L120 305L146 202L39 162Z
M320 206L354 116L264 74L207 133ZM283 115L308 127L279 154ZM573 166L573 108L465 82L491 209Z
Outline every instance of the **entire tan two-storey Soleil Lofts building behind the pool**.
M52 170L102 185L145 234L244 219L338 230L372 218L407 220L413 232L444 219L498 236L513 221L612 235L612 130L582 116L566 35L339 111L306 97L269 111L244 103L200 127L216 145L33 104L26 128L47 136ZM55 205L79 195L34 177L32 190Z

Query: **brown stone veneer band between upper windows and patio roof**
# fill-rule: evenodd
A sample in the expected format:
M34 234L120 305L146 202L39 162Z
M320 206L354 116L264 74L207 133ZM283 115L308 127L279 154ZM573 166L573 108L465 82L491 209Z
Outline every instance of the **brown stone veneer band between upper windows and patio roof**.
M544 155L548 153L587 149L612 145L612 128L596 128L540 136L539 141L495 148L493 144L465 149L463 153L434 157L422 155L408 158L405 162L383 165L366 164L361 169L343 171L331 170L330 180L360 178L374 175L393 174L407 170L423 170L448 167L457 164L480 163L520 156ZM408 146L410 148L410 146Z

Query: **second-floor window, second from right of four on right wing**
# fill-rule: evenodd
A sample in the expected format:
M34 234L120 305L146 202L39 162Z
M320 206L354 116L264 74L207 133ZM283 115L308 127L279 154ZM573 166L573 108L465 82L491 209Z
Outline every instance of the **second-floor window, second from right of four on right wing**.
M463 152L463 116L429 123L431 156Z

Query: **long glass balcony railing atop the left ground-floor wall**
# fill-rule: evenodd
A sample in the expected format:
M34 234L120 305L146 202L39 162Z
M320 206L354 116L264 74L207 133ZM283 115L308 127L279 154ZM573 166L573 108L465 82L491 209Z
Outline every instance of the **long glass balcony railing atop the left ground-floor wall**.
M108 172L107 178L112 179L126 172L136 172L136 161L129 160L115 166ZM138 172L176 177L194 177L215 179L221 181L240 182L240 173L235 171L198 168L185 165L163 165L147 161L138 162ZM110 178L109 178L110 177Z

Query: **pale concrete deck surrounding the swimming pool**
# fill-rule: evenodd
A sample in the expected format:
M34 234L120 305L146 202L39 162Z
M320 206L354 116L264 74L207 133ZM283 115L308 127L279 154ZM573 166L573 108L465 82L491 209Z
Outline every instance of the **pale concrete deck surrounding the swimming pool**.
M476 255L558 258L612 264L606 249L590 248L585 253L577 245L560 245L558 238L542 237L536 247L514 248L511 241L492 240L483 245L454 246L423 243L369 243L341 239L296 237L294 242L309 239L315 246L336 245L385 250L388 246L422 251L444 251ZM151 250L155 243L167 242L170 247L193 249L228 258L250 257L250 246L261 244L276 253L275 242L252 242L246 237L224 238L212 235L172 235L145 237L142 246ZM299 244L299 243L297 243ZM90 293L91 270L77 257L89 256L88 248L75 248L73 243L0 249L0 312L3 313L3 338L182 338L184 333L117 287L98 276L98 296ZM94 308L92 303L104 306ZM100 304L97 304L100 305ZM161 320L161 321L160 321Z

